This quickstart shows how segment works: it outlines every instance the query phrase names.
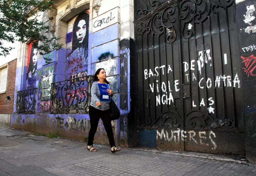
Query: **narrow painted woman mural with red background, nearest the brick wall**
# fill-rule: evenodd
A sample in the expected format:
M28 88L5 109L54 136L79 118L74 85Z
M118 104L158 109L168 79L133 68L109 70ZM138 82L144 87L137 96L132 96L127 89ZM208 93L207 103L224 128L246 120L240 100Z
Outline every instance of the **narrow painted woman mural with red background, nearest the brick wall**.
M37 42L29 44L29 59L27 62L27 89L32 89L36 87L36 72L37 72L37 57L38 51L34 47Z

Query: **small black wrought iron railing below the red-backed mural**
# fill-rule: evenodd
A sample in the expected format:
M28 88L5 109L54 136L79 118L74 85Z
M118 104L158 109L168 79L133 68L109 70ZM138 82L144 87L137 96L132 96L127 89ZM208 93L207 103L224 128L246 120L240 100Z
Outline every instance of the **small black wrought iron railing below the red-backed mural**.
M16 113L34 114L37 88L17 92Z

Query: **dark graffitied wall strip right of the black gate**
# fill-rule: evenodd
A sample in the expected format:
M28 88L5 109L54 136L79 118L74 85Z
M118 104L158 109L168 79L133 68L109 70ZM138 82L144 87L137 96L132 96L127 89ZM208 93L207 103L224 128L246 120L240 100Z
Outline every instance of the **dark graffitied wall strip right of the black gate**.
M240 41L240 61L243 72L244 130L246 158L256 163L256 2L239 1L236 20Z

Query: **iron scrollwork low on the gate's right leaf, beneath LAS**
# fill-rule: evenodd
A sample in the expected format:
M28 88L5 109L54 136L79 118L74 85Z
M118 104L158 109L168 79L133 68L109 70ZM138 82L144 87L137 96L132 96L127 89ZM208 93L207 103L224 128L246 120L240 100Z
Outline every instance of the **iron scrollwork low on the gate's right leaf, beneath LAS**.
M185 117L185 125L188 128L234 128L235 122L230 119L214 119L208 113L201 110L189 112Z

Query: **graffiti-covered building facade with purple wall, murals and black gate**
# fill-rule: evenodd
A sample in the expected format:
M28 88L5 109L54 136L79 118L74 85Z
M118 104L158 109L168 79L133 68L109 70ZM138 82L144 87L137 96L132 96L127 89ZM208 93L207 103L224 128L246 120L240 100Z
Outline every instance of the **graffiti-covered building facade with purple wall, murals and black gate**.
M255 6L252 0L54 1L38 18L63 48L40 56L33 42L20 45L11 126L88 136L90 75L105 68L121 112L112 122L119 145L255 162ZM95 142L108 144L102 122Z

